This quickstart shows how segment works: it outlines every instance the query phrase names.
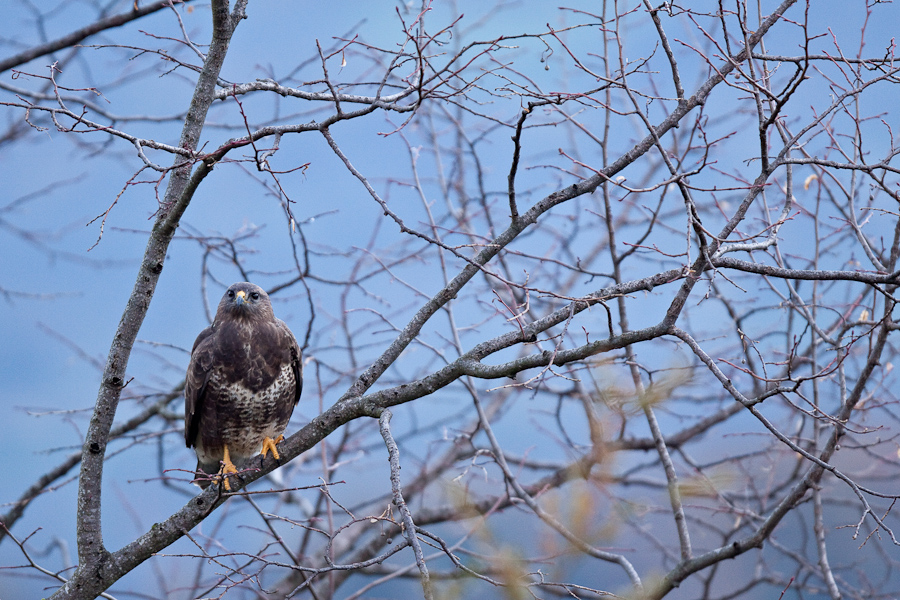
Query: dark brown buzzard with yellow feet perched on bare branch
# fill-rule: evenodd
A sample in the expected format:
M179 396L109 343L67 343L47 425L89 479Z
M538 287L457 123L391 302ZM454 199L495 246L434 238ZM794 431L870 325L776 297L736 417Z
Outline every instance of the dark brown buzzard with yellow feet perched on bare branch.
M257 285L228 288L213 324L200 332L184 384L184 441L197 452L194 482L209 486L253 456L280 458L275 444L300 399L303 373L294 334Z

